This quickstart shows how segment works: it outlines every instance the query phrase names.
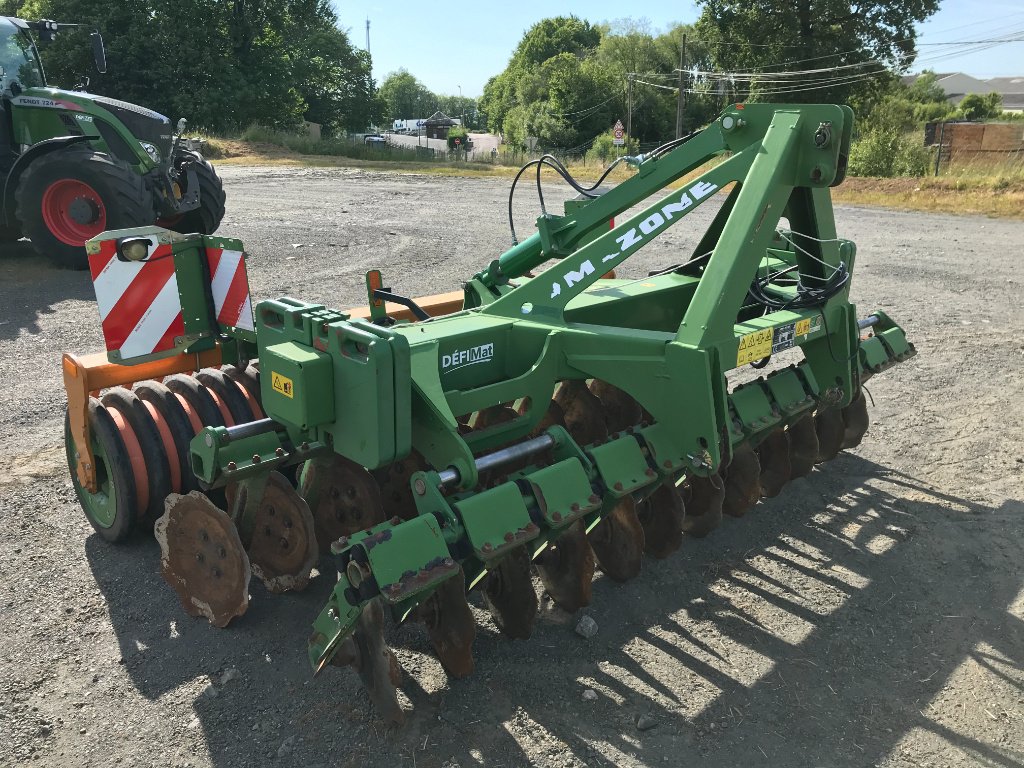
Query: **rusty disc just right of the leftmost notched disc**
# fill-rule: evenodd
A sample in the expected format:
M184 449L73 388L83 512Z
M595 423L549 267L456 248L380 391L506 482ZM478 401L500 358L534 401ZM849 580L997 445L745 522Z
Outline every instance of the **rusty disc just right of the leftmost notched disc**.
M270 592L305 589L319 554L313 516L282 474L270 473L250 525L253 573Z

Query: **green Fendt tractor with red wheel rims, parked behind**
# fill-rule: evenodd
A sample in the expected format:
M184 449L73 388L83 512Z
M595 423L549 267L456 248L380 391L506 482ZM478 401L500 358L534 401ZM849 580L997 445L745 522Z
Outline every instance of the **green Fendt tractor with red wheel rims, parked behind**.
M48 43L74 26L0 16L0 244L25 237L57 265L85 269L85 242L106 229L213 233L223 185L182 145L184 120L175 131L144 106L47 86L33 33ZM102 38L91 39L104 73Z

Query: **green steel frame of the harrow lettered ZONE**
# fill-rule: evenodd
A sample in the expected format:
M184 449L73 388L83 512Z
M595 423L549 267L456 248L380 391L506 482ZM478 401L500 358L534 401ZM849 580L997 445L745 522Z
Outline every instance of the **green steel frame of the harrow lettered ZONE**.
M796 300L794 276L852 271L856 249L837 237L828 190L843 178L852 127L845 106L736 104L689 141L635 159L630 180L542 217L535 236L466 284L453 314L388 326L288 298L257 306L269 418L193 441L206 483L255 485L237 495L250 505L231 510L240 527L282 465L340 454L374 469L415 450L432 467L412 479L418 516L334 543L339 581L309 641L314 668L369 601L404 616L460 573L472 588L512 549L536 557L628 495L713 474L736 445L849 404L866 377L913 354L882 312L861 322L872 335L859 338L849 283L813 306L775 311L748 293L763 279ZM600 280L713 199L721 207L689 261L639 281ZM782 217L788 229L778 229ZM794 365L730 389L729 371L796 348ZM600 444L578 444L557 426L538 434L558 383L586 379L639 401L644 421ZM502 403L521 415L461 432L460 419ZM493 466L508 476L481 489L480 469Z

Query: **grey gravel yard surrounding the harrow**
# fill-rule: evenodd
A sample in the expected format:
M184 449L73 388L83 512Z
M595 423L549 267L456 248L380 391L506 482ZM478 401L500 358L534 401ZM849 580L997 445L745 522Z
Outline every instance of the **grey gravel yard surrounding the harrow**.
M508 243L504 180L223 175L222 232L245 240L257 298L353 306L371 266L402 293L453 290ZM535 204L524 191L524 231ZM678 261L709 213L627 274ZM92 532L65 466L59 370L61 352L101 346L91 287L9 249L0 764L1024 764L1024 223L837 217L858 244L856 301L920 351L872 381L864 443L629 584L599 578L589 640L548 610L531 640L506 642L479 612L476 673L449 681L419 627L393 632L415 708L397 731L350 670L309 676L330 579L285 596L254 584L249 612L215 630L183 614L155 542Z

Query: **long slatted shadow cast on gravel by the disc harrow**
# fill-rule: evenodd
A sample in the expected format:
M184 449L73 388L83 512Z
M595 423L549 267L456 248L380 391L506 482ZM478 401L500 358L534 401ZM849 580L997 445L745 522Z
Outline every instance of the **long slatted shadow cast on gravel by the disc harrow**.
M445 683L423 633L393 631L415 711L391 731L350 670L309 677L330 579L286 596L254 584L249 612L215 630L183 613L155 543L91 537L86 552L133 683L190 702L186 727L220 768L864 766L915 730L1017 766L1019 745L968 738L928 710L966 663L1020 685L1024 626L1007 608L1024 586L1022 513L844 455L633 582L600 579L590 641L571 623L542 621L516 643L481 626L476 673Z

